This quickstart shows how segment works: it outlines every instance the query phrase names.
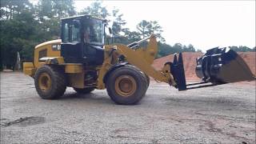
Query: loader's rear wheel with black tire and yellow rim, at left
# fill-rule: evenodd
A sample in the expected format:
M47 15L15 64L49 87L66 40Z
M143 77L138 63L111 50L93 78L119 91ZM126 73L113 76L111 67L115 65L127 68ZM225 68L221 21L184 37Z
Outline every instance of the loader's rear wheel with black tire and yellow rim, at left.
M34 86L41 98L60 98L66 91L66 77L57 66L42 66L34 76Z

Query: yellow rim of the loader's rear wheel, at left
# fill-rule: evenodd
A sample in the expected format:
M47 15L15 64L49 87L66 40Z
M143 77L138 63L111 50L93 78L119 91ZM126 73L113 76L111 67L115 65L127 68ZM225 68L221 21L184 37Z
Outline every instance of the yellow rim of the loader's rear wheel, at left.
M50 75L47 73L40 74L38 78L38 85L40 90L42 91L50 90L50 86L51 86Z

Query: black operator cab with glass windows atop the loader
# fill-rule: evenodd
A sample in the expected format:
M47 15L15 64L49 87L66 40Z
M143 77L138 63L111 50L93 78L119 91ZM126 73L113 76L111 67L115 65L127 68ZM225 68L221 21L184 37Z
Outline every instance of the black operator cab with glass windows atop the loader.
M66 63L102 65L106 20L82 15L62 18L61 55Z

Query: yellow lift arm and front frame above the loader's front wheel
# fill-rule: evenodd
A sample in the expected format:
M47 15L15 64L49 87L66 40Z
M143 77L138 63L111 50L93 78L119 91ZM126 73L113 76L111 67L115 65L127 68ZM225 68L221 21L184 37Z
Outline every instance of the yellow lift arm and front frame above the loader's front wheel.
M158 82L166 82L176 86L173 76L170 74L170 66L166 65L162 70L155 70L151 64L158 52L158 45L154 35L151 35L150 42L146 49L133 50L128 46L118 44L116 46L105 46L105 59L103 65L98 68L97 88L104 89L103 78L110 67L117 63L118 56L124 55L126 61L137 66L143 73L154 78Z

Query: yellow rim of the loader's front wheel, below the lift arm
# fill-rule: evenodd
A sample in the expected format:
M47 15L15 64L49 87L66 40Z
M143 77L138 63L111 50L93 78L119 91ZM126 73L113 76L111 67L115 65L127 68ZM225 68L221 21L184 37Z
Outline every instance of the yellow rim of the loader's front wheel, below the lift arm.
M115 91L122 97L129 97L137 89L137 83L130 75L122 75L114 82Z

